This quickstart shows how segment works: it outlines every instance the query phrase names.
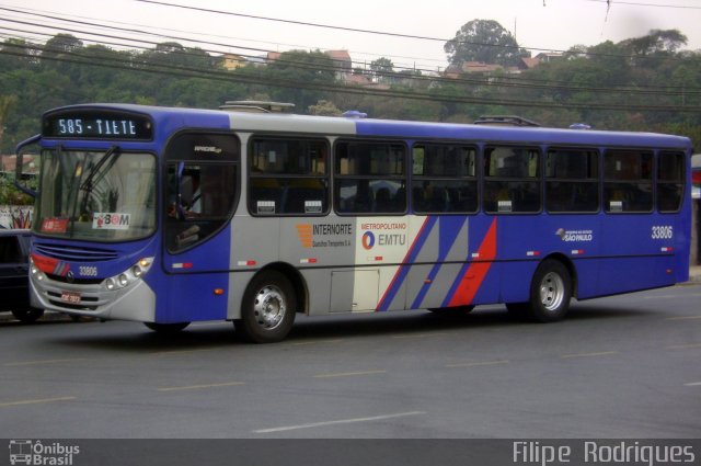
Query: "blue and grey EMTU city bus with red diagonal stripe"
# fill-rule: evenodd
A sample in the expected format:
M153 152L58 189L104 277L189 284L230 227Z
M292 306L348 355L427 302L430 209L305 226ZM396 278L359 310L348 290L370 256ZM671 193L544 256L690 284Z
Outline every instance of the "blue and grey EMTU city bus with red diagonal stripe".
M547 322L688 280L686 137L229 106L44 114L33 306L274 342L297 314Z

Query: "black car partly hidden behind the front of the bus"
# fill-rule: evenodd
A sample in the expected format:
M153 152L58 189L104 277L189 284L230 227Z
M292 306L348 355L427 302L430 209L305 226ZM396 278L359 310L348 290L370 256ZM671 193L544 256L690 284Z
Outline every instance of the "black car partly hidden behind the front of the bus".
M0 229L0 311L33 322L44 309L30 306L30 232Z

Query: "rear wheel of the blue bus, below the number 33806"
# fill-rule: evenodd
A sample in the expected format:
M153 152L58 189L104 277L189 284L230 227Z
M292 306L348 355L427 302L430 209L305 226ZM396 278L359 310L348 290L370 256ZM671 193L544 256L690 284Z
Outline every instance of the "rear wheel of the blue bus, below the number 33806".
M562 320L570 310L572 299L572 277L567 268L560 261L543 261L530 285L530 302L524 310L526 315L538 322L554 322ZM519 304L514 305L518 310Z

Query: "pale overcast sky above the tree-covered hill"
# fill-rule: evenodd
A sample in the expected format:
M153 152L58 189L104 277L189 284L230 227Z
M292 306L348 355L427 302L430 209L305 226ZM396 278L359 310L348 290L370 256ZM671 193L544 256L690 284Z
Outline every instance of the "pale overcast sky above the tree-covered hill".
M113 43L107 44L113 48L118 48L117 44L127 47L136 44L124 41L124 37L142 41L141 46L152 48L152 43L175 37L183 45L199 46L211 52L264 55L265 50L346 49L358 65L369 65L377 58L387 57L398 68L438 70L447 66L445 42L453 38L462 25L472 20L495 20L515 35L521 47L531 49L533 56L540 52L566 50L574 45L620 42L646 35L655 29L677 29L688 37L685 49L701 50L701 0L158 2L161 4L139 0L0 0L0 9L22 11L0 10L0 41L16 36L45 42L57 33L70 33L85 43L91 39ZM171 7L175 4L191 8ZM197 11L192 7L218 12ZM66 23L58 18L73 22ZM120 30L96 29L76 21ZM90 35L90 32L118 37L99 37ZM153 33L160 35L153 36Z

